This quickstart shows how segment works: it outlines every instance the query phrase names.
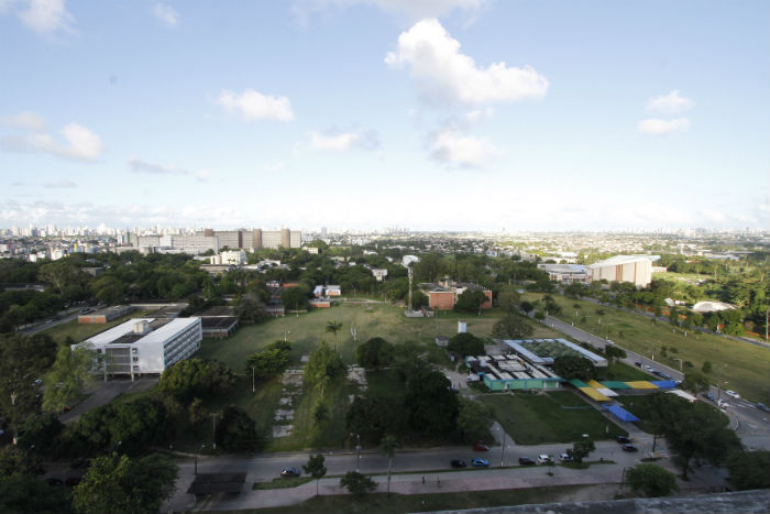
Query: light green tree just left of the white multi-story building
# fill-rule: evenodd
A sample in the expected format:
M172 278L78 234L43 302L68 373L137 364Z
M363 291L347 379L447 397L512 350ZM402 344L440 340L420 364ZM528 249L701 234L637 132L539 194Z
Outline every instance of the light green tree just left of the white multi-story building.
M94 386L97 382L94 371L99 369L99 356L90 347L61 347L56 361L43 380L43 411L62 412L78 394Z

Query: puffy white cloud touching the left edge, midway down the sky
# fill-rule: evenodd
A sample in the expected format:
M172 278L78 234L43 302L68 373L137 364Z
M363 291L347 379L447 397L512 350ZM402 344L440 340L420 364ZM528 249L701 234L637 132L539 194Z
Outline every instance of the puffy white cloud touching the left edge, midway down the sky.
M26 129L22 135L6 135L0 139L0 146L14 152L50 153L75 161L96 161L105 151L101 138L86 127L69 123L62 129L62 135L68 144L62 144L44 132L45 121L40 114L22 112L10 118L7 124Z

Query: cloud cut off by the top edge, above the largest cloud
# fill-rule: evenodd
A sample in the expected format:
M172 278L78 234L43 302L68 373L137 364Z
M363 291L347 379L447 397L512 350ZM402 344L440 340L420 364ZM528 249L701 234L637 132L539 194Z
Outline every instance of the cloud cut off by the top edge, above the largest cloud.
M455 9L475 12L486 3L487 0L297 0L293 10L305 19L312 12L329 8L344 9L354 6L372 6L415 21L424 18L440 18Z

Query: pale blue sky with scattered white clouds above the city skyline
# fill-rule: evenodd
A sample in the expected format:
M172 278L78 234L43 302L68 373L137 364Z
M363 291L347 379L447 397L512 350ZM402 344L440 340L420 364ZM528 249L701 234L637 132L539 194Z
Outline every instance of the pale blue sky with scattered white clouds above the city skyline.
M770 4L0 0L0 227L770 228Z

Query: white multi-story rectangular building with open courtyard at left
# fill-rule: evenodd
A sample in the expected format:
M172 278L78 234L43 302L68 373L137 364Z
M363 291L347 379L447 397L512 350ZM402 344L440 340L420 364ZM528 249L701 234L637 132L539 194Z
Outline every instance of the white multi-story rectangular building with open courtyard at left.
M102 354L101 370L108 376L160 374L200 349L200 318L136 318L73 345Z

